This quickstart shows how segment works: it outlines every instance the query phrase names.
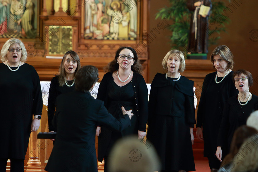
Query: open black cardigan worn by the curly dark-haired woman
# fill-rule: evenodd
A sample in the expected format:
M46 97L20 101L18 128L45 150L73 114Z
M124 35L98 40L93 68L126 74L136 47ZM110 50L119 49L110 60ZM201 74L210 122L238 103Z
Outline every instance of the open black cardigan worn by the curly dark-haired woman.
M104 106L108 108L108 94L107 88L110 82L114 80L112 77L112 72L108 72L103 76L101 80L97 99L104 101ZM146 123L148 119L148 89L145 83L145 80L142 75L134 72L133 78L131 80L132 86L135 92L135 106L136 106L136 115L139 126L139 131L146 132Z

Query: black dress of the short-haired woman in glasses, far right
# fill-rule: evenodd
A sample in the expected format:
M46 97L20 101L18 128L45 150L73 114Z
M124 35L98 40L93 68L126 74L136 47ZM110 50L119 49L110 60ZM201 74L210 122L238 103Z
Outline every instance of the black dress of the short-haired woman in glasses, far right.
M223 111L217 144L217 146L224 148L222 155L225 156L229 153L230 143L236 129L246 125L247 118L256 110L258 110L258 97L256 95L252 95L252 99L244 106L239 104L237 96L228 99Z

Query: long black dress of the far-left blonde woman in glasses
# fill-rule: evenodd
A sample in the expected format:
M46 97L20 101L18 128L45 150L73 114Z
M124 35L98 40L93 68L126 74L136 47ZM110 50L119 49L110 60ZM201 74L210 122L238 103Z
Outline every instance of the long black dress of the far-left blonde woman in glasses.
M39 76L26 63L17 71L1 63L0 90L0 158L24 159L33 115L41 115L42 111Z

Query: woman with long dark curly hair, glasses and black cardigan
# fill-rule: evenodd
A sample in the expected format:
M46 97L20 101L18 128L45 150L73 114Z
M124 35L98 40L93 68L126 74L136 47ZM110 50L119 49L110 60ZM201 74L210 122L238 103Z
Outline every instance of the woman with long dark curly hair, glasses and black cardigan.
M123 116L121 106L132 109L134 116L131 118L131 126L122 132L113 132L105 126L97 127L98 160L102 162L105 158L105 172L108 170L108 156L114 143L132 134L143 139L148 118L148 90L140 75L142 65L136 51L131 47L120 47L115 53L115 59L106 66L106 71L108 73L101 80L97 99L104 101L108 112L116 119Z

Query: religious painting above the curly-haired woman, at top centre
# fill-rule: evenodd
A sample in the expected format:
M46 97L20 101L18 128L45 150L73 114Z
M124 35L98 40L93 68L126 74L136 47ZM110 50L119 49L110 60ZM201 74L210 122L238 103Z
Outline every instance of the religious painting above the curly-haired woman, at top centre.
M84 38L135 40L138 4L136 0L88 0L85 4Z

